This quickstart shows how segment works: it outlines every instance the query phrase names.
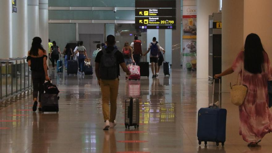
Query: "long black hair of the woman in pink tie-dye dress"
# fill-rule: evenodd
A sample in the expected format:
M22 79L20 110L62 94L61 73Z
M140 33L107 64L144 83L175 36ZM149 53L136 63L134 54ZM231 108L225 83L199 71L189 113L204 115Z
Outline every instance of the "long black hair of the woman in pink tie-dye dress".
M260 37L255 33L249 34L244 44L244 69L253 74L261 73L264 70L263 52Z

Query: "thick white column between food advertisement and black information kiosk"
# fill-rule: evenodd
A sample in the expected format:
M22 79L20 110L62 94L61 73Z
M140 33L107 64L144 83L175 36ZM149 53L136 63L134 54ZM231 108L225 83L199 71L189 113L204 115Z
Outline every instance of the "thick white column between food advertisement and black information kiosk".
M218 12L218 0L197 0L197 78L208 79L209 15Z

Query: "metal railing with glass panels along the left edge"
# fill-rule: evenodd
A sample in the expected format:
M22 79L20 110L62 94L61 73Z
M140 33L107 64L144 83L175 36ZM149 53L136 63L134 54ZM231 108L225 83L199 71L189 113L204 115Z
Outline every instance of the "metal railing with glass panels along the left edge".
M0 106L4 107L33 91L27 57L0 59Z

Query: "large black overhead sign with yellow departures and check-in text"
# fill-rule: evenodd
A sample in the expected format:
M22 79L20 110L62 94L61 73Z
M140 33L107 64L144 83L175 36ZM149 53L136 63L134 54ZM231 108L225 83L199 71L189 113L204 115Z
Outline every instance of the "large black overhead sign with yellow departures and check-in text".
M135 0L136 29L176 29L176 1Z

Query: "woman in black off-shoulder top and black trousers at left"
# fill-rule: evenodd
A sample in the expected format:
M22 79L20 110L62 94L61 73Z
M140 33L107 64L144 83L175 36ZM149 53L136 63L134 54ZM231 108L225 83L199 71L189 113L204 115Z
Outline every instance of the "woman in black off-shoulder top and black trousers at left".
M41 95L44 93L43 84L46 81L49 81L49 77L47 74L47 55L46 51L41 45L40 37L34 37L32 41L32 46L30 51L28 51L28 66L30 66L30 70L32 72L32 83L33 83L33 107L32 110L35 112L37 110L37 99L39 92L39 103L41 100ZM39 105L39 111L41 111L41 103Z

